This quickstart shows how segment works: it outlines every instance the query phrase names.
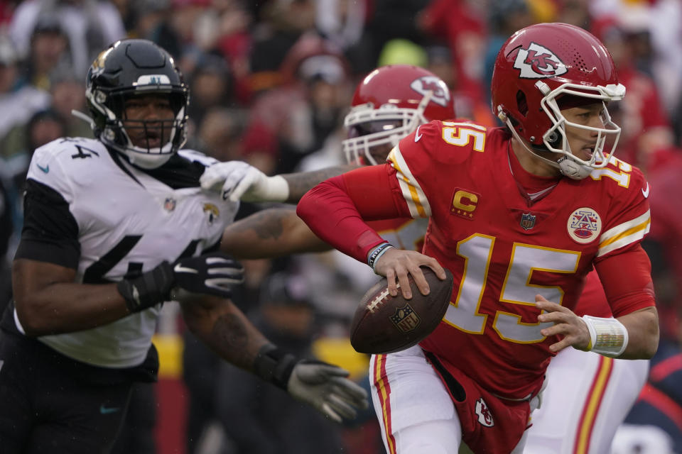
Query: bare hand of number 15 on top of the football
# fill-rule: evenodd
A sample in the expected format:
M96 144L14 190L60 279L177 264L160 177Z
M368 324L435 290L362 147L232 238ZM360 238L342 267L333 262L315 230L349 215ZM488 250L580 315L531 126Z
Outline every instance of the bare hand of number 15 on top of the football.
M438 279L445 279L445 270L440 266L438 260L428 255L423 255L414 250L404 250L398 248L390 248L386 253L374 264L374 272L377 275L386 277L389 283L389 293L394 297L398 294L398 283L400 284L401 292L405 299L412 298L412 289L408 275L412 275L419 292L423 295L428 295L430 292L428 282L419 269L421 266L427 266L435 272Z

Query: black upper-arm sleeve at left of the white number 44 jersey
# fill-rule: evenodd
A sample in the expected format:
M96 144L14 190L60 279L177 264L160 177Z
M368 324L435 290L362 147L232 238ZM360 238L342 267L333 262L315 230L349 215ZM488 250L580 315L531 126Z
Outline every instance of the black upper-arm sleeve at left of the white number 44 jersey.
M69 204L57 191L33 179L26 180L23 229L14 258L78 267L78 224Z

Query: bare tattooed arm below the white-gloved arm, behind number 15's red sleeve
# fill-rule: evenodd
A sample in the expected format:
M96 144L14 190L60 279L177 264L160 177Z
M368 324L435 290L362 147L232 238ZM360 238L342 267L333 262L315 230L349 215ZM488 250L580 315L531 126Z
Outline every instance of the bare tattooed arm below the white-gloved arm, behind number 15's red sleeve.
M271 208L227 226L220 250L239 259L274 258L296 253L330 250L305 222L295 207Z

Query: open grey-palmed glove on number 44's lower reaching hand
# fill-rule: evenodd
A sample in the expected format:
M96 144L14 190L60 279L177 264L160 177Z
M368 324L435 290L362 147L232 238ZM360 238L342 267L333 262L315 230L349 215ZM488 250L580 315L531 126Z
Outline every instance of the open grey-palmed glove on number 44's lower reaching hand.
M286 390L334 421L354 419L356 408L366 409L367 391L346 377L347 370L326 362L297 362Z

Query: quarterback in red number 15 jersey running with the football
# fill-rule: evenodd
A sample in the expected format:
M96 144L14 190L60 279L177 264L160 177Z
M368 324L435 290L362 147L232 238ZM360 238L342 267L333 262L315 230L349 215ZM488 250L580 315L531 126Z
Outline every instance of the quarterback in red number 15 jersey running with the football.
M428 293L419 265L455 275L443 323L419 346L373 359L390 453L521 453L549 360L573 345L646 359L658 322L649 259L648 185L605 153L620 129L615 68L590 33L537 24L507 40L492 80L506 128L433 121L389 163L334 177L298 214L323 240L411 297ZM367 194L372 194L368 197ZM363 218L428 217L423 253L392 247ZM614 318L580 317L595 267ZM585 451L586 452L586 451Z

